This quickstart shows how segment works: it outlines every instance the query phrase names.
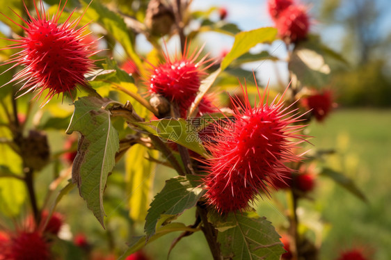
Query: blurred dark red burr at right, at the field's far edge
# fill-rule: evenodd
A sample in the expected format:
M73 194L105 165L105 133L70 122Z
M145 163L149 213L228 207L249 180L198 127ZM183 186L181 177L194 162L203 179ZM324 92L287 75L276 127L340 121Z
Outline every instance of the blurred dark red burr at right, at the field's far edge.
M312 109L311 113L318 122L322 122L333 108L333 98L330 90L324 92L315 92L314 95L302 99L301 104L308 109Z

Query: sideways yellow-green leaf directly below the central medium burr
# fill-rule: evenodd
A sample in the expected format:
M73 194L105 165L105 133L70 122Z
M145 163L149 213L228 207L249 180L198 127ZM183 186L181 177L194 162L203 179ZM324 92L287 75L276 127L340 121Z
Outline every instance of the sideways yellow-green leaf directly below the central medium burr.
M152 120L151 122L133 122L133 124L136 124L138 127L155 136L163 138L163 140L178 143L204 157L209 156L198 137L196 127L193 127L192 124L186 122L183 118Z

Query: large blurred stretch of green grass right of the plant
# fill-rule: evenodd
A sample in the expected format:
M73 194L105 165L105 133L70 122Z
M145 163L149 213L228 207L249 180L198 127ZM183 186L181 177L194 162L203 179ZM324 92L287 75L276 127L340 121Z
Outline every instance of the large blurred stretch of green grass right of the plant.
M316 148L336 148L326 163L356 181L365 193L365 204L331 181L321 180L318 208L330 224L321 259L349 245L369 247L371 259L391 257L391 111L340 110L324 124L312 124Z

